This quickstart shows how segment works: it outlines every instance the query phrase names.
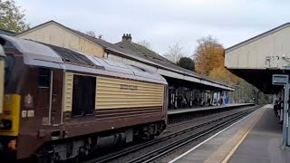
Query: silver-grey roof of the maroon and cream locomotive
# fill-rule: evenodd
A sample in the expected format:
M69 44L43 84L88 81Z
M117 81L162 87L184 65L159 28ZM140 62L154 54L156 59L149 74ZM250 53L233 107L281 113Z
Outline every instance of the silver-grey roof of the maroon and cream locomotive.
M166 80L157 72L122 62L114 62L52 44L37 43L3 34L0 34L0 38L13 44L14 48L23 53L25 64L167 84Z

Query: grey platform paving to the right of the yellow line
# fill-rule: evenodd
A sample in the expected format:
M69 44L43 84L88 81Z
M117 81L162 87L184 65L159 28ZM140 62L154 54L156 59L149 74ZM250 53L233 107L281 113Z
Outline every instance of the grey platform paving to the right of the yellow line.
M258 120L229 158L229 163L290 163L290 150L282 149L282 125L274 117L272 107Z

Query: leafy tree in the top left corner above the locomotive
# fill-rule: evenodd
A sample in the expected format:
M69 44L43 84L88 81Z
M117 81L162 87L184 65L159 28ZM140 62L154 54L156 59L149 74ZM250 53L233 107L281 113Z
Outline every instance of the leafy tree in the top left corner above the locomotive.
M24 10L14 0L0 2L0 29L20 33L29 28L25 23Z

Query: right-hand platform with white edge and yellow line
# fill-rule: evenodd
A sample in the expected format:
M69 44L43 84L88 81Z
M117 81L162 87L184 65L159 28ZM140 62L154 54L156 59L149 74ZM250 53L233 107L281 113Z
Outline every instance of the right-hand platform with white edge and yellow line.
M218 131L173 162L289 163L290 150L282 149L282 125L266 105L242 120Z

